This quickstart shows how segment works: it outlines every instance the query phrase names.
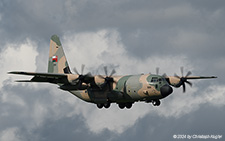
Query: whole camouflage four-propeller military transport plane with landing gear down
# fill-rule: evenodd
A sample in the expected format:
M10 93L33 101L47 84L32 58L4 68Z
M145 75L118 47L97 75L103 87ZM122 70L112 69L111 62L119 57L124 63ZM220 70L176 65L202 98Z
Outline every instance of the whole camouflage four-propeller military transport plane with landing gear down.
M50 40L50 51L48 61L48 73L12 71L9 74L31 75L31 80L19 80L17 82L48 82L57 84L60 89L69 91L78 98L97 105L98 108L109 108L111 103L117 103L119 108L131 108L133 103L144 101L152 103L154 106L160 105L163 99L173 92L171 86L179 88L185 83L192 86L190 79L209 79L215 76L190 76L189 71L183 76L181 67L181 77L178 75L167 76L156 74L140 74L113 76L116 71L113 69L108 74L107 67L104 67L105 75L83 74L84 65L81 66L81 73L74 68L76 74L72 74L66 60L61 42L57 35L53 35Z

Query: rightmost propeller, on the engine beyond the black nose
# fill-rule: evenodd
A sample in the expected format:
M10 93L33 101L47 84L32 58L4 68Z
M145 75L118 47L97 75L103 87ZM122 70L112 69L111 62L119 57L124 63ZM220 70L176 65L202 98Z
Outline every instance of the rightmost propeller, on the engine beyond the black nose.
M176 78L179 78L180 79L180 82L177 84L177 87L180 87L181 85L183 86L183 92L186 92L186 86L185 86L185 83L187 83L188 85L192 86L192 83L187 81L187 77L189 75L191 75L191 72L188 71L187 74L184 76L184 67L181 67L180 68L180 71L181 71L181 77L178 76L176 73L174 74L174 76Z

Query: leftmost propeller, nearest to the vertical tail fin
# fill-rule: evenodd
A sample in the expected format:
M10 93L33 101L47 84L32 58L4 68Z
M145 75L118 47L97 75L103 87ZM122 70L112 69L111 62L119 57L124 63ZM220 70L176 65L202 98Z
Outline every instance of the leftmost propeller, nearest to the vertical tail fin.
M73 71L74 71L77 75L79 75L77 79L73 80L73 82L76 82L76 84L78 83L78 88L79 88L79 89L81 88L82 83L85 82L85 78L91 76L91 73L90 73L90 72L87 73L87 74L85 74L85 75L83 75L84 68L85 68L85 65L82 64L82 65L81 65L81 73L79 73L79 72L77 71L76 67L73 68Z

